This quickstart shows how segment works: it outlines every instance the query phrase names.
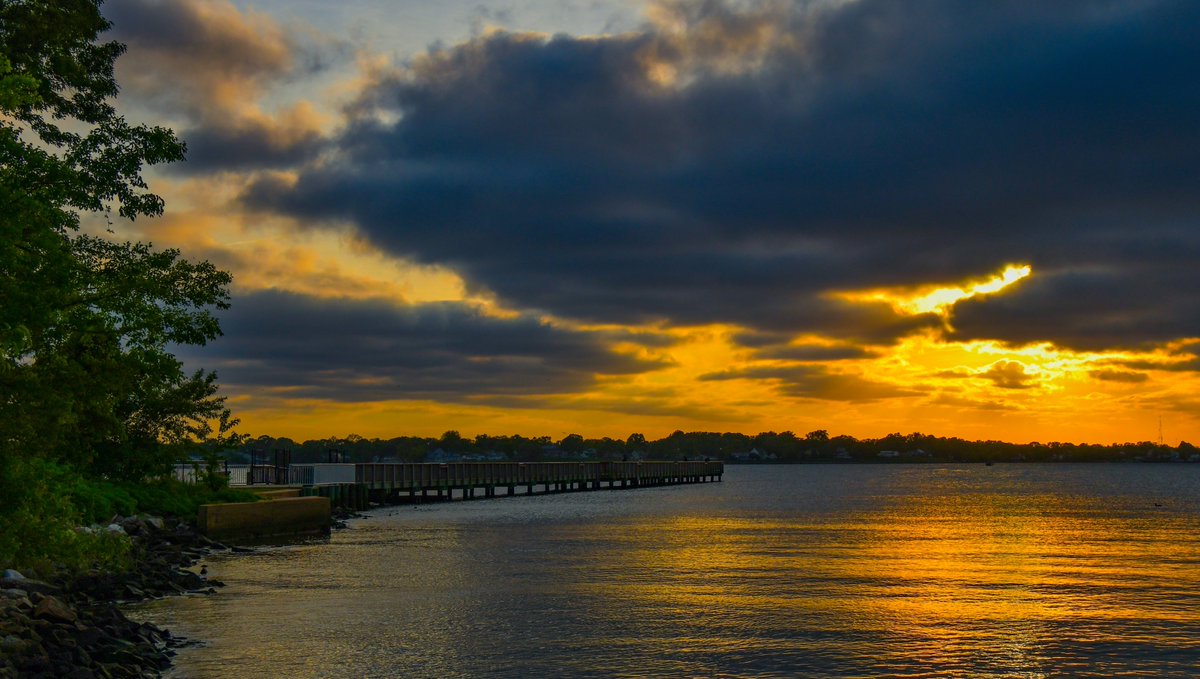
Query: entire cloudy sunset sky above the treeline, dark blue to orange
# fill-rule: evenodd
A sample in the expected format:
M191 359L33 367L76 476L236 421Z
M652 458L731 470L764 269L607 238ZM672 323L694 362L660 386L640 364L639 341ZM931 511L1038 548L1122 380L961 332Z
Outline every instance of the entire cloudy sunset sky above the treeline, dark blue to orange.
M1193 0L108 0L254 435L1200 426Z

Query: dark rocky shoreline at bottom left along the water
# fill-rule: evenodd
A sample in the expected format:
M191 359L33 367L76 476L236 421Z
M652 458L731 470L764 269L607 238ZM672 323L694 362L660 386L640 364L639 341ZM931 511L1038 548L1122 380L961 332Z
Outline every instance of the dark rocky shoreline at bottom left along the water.
M222 583L187 570L214 551L235 549L176 518L114 518L107 530L133 542L127 572L85 572L46 581L5 571L0 578L0 679L158 677L186 639L134 623L124 603L212 593ZM203 572L203 571L202 571Z

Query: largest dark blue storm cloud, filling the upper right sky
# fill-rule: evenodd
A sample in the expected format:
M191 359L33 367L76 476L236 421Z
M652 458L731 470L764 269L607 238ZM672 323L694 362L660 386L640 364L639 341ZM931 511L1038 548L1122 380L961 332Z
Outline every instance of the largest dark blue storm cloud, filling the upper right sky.
M827 293L1030 263L960 337L1196 334L1200 4L673 7L682 30L434 52L364 95L336 161L246 200L568 318L887 343L930 319Z

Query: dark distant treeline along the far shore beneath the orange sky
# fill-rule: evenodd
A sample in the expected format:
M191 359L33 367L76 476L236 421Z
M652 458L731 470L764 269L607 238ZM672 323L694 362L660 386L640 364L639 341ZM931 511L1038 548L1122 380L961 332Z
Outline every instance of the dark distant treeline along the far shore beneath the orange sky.
M292 462L426 462L452 459L722 459L726 462L1100 462L1100 461L1200 461L1200 449L1189 443L1177 447L1152 441L1123 444L1027 443L965 440L929 434L888 434L877 439L830 437L817 429L804 435L763 432L755 435L716 432L682 432L648 440L630 434L586 439L570 434L551 437L478 435L464 438L449 431L439 438L397 437L367 439L350 434L296 443L288 438L259 437L227 455L230 461L274 459L283 452Z

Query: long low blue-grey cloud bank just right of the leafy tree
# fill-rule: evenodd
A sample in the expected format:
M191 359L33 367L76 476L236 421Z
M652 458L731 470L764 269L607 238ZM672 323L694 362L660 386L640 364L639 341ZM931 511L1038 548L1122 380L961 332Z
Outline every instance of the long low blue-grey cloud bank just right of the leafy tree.
M217 369L234 389L277 387L334 401L432 398L587 390L598 375L660 363L616 354L604 332L536 319L482 316L463 304L396 306L288 293L239 295L222 314L226 337L185 360Z

